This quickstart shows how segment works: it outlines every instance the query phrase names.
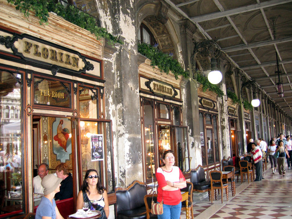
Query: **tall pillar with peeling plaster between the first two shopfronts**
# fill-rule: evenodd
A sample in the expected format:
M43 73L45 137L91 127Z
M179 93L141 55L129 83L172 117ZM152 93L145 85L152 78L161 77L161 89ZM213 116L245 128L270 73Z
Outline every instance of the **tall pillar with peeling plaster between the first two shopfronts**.
M123 45L104 62L106 118L112 120L116 187L143 181L134 0L97 1L103 27ZM111 49L108 48L108 51Z

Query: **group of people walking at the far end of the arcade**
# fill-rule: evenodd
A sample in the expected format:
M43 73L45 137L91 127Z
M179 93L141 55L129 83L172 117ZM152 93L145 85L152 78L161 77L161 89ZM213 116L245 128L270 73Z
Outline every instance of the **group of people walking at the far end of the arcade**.
M279 134L277 139L272 138L269 146L263 139L254 140L250 139L250 143L247 146L247 153L244 157L250 156L253 158L253 162L256 166L256 179L255 182L264 179L262 177L262 159L268 158L271 163L271 169L273 174L276 173L276 167L278 166L278 173L285 176L286 173L286 159L288 169L292 167L292 141L291 136L284 137L282 133Z

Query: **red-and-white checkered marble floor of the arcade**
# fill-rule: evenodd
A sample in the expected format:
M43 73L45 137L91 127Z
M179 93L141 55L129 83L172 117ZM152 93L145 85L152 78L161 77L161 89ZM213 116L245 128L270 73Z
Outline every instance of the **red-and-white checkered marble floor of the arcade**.
M247 179L236 182L236 196L231 193L226 201L225 190L223 203L221 195L213 204L208 198L193 203L194 218L198 219L292 219L292 170L286 164L286 174L272 173L271 165L264 171L260 182L247 183ZM182 212L181 219L185 219Z

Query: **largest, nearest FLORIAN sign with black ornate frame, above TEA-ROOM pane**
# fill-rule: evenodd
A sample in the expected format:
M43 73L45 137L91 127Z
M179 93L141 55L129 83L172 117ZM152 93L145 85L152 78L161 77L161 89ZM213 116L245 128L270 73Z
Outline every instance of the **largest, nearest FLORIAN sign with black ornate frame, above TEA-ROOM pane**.
M11 49L14 55L20 56L27 64L49 69L53 75L59 70L85 73L94 69L93 64L78 52L25 34L0 35L0 44Z

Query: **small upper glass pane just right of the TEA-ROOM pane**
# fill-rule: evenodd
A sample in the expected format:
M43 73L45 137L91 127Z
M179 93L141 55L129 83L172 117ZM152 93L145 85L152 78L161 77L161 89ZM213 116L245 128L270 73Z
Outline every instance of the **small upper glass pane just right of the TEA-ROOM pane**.
M81 118L97 119L97 91L79 88L79 110Z

